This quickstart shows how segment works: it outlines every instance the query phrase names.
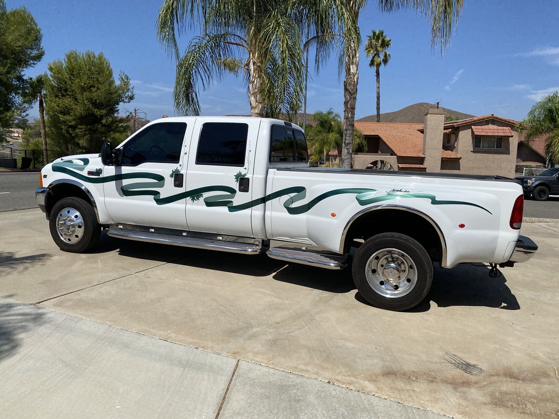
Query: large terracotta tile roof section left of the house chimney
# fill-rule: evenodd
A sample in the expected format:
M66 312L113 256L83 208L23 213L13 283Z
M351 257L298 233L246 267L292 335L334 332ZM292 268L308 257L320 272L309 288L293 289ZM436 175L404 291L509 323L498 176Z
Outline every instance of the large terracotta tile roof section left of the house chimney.
M397 156L425 157L423 134L418 131L423 128L423 123L356 122L355 126L363 135L381 137Z

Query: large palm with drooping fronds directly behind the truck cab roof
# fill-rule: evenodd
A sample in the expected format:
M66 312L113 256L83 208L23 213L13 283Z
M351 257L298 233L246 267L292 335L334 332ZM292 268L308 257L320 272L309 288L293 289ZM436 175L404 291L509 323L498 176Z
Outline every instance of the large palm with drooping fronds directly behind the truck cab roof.
M302 96L301 21L277 0L165 0L157 34L177 60L175 107L198 115L205 90L225 72L243 72L253 116L290 112ZM181 57L177 36L200 27Z

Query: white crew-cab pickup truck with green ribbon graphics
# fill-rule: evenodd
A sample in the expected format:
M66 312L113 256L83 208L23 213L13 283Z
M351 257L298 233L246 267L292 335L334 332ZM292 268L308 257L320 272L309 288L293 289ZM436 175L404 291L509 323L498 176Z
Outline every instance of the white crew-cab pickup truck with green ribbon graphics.
M115 149L55 160L40 179L61 250L86 251L105 229L330 269L352 259L358 291L389 310L427 295L434 261L513 266L537 250L519 236L514 179L309 168L301 128L268 118L162 118Z

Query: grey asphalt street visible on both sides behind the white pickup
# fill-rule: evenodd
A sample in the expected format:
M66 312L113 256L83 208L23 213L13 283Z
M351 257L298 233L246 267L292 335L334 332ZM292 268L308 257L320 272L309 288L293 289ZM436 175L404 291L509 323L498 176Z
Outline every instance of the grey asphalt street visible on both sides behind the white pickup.
M0 173L0 212L37 208L35 189L38 186L38 173ZM524 217L559 219L559 196L549 197L546 202L527 199Z

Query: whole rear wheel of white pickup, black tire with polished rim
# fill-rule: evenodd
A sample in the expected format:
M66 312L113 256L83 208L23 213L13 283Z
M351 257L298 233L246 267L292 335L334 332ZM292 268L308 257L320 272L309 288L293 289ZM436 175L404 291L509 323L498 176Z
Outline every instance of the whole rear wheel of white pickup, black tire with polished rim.
M433 263L415 239L383 233L359 247L352 273L357 290L370 304L402 311L427 296L433 282Z

